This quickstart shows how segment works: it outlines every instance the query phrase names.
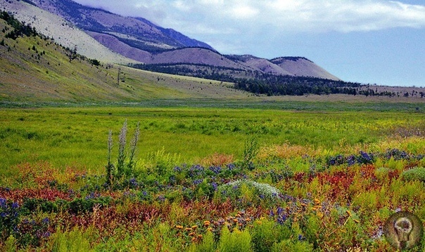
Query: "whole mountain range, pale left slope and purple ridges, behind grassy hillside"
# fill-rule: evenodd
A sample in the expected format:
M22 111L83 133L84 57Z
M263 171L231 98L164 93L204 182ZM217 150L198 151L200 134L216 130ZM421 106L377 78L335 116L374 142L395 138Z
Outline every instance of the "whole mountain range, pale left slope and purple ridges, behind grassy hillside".
M208 44L144 18L123 17L71 0L8 0L0 7L63 46L105 62L144 63L153 65L151 69L185 67L183 72L193 72L189 75L203 71L248 78L275 74L339 80L306 58L222 55Z

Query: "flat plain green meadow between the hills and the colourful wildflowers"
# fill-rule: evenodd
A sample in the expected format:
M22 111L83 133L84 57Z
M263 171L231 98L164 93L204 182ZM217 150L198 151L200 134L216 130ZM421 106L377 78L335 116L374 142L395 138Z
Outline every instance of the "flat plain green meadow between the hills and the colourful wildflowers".
M373 145L409 128L424 129L417 112L332 112L273 109L62 107L0 110L0 164L7 172L22 162L102 169L108 132L127 119L140 123L138 157L165 150L192 163L208 155L241 158L246 138L260 145L309 146L345 152Z

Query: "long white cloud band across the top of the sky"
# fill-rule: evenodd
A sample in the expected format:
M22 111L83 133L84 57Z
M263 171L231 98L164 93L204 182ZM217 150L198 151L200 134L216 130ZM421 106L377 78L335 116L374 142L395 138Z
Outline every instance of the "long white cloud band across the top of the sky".
M165 27L205 30L279 29L283 32L355 32L425 27L425 6L384 0L76 0L121 15L139 15ZM175 25L179 25L179 27ZM193 24L197 24L195 27ZM210 27L205 29L205 27Z

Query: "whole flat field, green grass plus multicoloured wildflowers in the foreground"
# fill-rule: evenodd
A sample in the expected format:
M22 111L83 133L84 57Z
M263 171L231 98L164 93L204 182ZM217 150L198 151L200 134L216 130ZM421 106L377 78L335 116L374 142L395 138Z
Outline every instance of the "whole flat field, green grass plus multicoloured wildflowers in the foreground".
M421 105L189 105L1 109L1 250L393 251L425 220Z

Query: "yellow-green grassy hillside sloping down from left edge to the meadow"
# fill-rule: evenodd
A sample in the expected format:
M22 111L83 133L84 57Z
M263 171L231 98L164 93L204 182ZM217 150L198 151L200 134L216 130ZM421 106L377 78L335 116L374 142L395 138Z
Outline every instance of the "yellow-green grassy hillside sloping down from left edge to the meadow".
M9 102L105 102L153 98L242 98L219 81L92 65L84 57L70 62L65 48L48 38L6 38L13 28L0 22L0 100ZM120 72L120 81L118 79ZM118 82L118 84L117 84Z

